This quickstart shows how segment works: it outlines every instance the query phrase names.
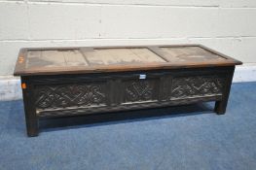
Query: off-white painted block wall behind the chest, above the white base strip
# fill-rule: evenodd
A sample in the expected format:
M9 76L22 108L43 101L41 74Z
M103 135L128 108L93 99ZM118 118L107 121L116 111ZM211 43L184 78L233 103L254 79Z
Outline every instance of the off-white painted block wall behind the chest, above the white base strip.
M25 47L202 44L256 63L256 0L0 0L0 75Z

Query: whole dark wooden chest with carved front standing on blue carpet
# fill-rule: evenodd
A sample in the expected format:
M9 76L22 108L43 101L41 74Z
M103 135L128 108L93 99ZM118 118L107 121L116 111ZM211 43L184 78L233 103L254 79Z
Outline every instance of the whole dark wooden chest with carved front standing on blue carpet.
M28 136L41 118L216 101L226 112L240 61L201 45L23 49L21 76Z

